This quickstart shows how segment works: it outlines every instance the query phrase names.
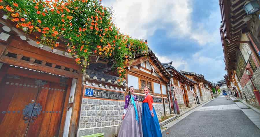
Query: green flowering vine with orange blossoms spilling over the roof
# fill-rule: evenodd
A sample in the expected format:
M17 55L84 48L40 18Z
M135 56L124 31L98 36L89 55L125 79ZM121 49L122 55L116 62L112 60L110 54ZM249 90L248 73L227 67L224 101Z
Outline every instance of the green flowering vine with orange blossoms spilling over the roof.
M116 61L117 74L125 77L133 52L147 52L147 43L120 33L110 8L101 0L0 0L0 9L27 33L39 32L37 44L55 48L66 40L66 52L86 68L89 57ZM118 80L120 81L120 80Z

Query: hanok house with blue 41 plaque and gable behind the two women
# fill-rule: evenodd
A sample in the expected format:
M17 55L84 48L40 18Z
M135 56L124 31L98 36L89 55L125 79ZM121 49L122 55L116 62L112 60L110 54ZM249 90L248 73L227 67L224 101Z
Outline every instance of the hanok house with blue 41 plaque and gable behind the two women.
M131 58L127 64L127 81L121 84L117 82L120 78L106 63L89 65L83 76L78 136L100 132L105 133L105 136L116 136L122 123L125 95L129 86L135 87L140 106L145 97L143 89L148 86L158 118L170 115L166 87L170 74L152 51L135 54Z

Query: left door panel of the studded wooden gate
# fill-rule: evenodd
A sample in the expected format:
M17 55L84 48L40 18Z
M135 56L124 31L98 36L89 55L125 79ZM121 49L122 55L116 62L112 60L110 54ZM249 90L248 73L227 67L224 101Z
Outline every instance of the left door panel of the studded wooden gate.
M4 137L25 136L31 111L25 106L34 103L38 86L34 79L6 75L1 83L0 134Z

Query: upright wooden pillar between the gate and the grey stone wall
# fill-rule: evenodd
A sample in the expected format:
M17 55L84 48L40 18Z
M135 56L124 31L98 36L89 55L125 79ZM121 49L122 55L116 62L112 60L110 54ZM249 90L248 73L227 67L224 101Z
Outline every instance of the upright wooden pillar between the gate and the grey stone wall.
M80 103L82 98L81 89L82 89L82 73L79 73L79 78L77 79L77 85L74 94L72 114L70 119L69 136L76 136L77 134L78 125L79 125L79 115L80 115Z

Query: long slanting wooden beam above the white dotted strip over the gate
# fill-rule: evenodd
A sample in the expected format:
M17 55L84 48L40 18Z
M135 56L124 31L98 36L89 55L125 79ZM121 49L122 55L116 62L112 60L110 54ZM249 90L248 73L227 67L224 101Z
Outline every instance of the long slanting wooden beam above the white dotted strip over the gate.
M70 78L78 78L78 74L70 73L66 70L60 70L60 69L57 69L54 67L49 67L46 65L41 65L41 64L37 64L37 63L33 63L33 62L21 60L21 59L16 59L16 58L8 57L8 56L2 56L2 58L0 59L0 62L7 63L10 65L16 65L16 66L20 66L20 67L26 67L26 68L30 68L30 69L34 69L34 70L40 70L43 72L58 74L58 75L62 75L62 76L67 76Z

